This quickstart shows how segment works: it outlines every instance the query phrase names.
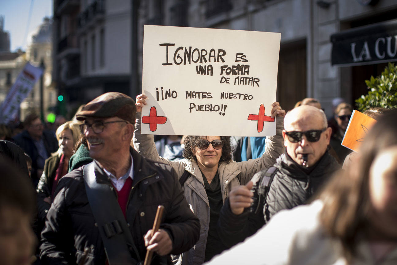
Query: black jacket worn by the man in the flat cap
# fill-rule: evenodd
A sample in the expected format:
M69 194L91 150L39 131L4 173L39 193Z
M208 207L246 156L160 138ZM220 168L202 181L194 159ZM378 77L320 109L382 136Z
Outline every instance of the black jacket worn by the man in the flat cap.
M126 219L135 245L139 251L131 255L145 259L146 248L143 236L152 228L158 205L165 210L160 228L166 230L173 242L172 254L189 250L197 242L200 223L189 209L173 169L165 164L143 158L131 149L134 165L133 188L127 203ZM40 259L43 264L76 264L88 247L85 264L105 264L106 255L98 227L88 203L83 178L84 166L73 170L60 179L56 196L46 217L42 232ZM111 185L103 169L95 163L98 182ZM116 191L115 191L116 199ZM157 260L170 263L169 256Z

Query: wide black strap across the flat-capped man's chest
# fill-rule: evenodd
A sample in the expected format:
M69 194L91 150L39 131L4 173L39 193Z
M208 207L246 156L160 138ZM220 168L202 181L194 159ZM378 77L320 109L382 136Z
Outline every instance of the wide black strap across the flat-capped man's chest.
M99 234L105 247L109 265L131 265L138 262L131 257L130 249L139 252L131 231L110 185L96 182L94 161L84 167L84 184Z

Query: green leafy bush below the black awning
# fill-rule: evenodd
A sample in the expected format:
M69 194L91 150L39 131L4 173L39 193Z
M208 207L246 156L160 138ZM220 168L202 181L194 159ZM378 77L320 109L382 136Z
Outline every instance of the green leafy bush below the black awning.
M371 107L397 108L397 66L389 63L384 72L376 78L365 80L368 94L356 99L361 112Z

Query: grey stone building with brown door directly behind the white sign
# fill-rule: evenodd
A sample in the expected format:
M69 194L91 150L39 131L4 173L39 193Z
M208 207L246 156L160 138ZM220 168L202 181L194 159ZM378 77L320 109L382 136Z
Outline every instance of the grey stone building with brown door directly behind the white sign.
M364 80L380 74L385 66L384 62L368 60L356 64L332 62L331 51L338 49L331 43L331 36L396 19L396 10L393 0L139 1L139 54L132 64L138 65L137 76L141 77L144 24L279 32L277 100L289 110L304 97L314 97L331 116L332 99L341 97L354 104L366 94ZM385 38L387 45L389 39ZM390 38L391 54L395 55L397 38ZM362 45L358 46L356 57L362 51ZM397 57L389 58L394 60Z

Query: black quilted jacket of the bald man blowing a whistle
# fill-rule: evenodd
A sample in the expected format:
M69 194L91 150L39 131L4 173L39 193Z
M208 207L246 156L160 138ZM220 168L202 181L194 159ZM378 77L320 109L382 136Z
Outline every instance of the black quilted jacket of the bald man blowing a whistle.
M305 204L340 167L328 151L309 174L289 158L287 153L280 155L274 166L277 172L270 183L268 195L256 214L245 209L241 215L235 215L231 212L229 199L225 201L218 221L218 233L227 246L234 246L254 234L279 211ZM257 185L258 179L265 173L266 170L256 173L252 182Z

